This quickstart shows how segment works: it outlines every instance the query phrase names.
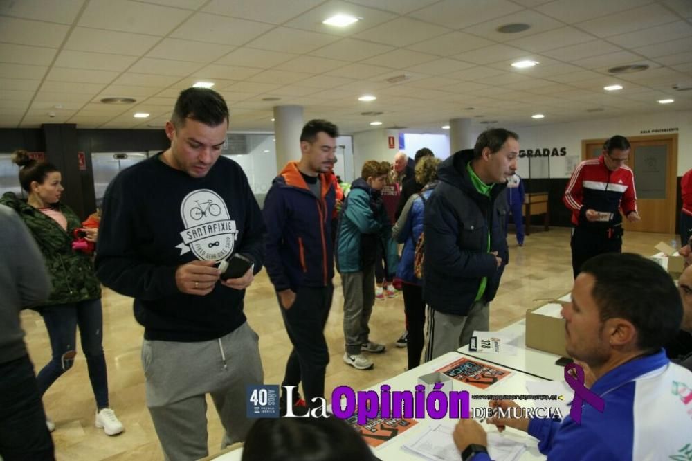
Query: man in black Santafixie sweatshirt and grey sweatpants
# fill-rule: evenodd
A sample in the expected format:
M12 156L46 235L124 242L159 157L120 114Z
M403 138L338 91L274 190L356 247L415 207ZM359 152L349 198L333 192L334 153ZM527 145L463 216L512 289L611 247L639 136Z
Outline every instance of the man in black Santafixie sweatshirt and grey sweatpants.
M165 126L170 148L120 172L104 197L96 271L134 298L147 406L167 460L208 454L206 394L223 446L244 440L246 386L263 381L243 300L265 227L243 170L221 157L227 129L219 93L182 91ZM217 265L236 253L254 266L221 280Z

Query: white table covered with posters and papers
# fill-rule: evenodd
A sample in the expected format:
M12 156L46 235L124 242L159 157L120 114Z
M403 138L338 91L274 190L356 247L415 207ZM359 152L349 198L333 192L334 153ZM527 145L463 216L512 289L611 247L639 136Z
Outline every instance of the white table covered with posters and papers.
M460 359L464 354L459 354L459 352L448 352L437 359L419 365L413 370L408 370L403 372L396 377L392 377L386 381L376 384L367 390L377 390L379 391L380 386L383 384L388 384L391 386L392 390L415 390L415 386L418 384L418 377L424 374L428 374L442 368L444 365L453 363ZM469 357L473 359L472 357ZM532 377L529 374L525 374L520 371L515 371L509 377L498 381L498 383L489 386L489 388L482 390L475 386L471 386L467 383L462 383L457 380L452 380L453 390L468 390L470 395L484 394L484 395L494 395L494 394L527 394L526 383L527 381L536 381L538 378ZM486 407L488 405L487 400L474 400L469 399L471 408ZM518 404L522 406L533 406L531 401L517 401ZM406 460L422 460L418 455L410 453L409 451L403 449L403 445L409 441L414 440L415 437L421 434L426 428L430 427L432 424L439 424L441 420L436 420L432 418L417 419L418 424L410 428L408 431L397 435L394 439L386 442L385 444L373 449L374 455L383 461L394 460L394 461L406 461ZM494 426L483 425L488 432L495 432ZM520 431L515 431L513 429L508 429L507 434L509 437L522 440L527 445L528 449L522 455L520 460L545 460L545 456L541 455L538 451L538 442L534 437L531 437L527 433L522 433ZM215 461L239 461L242 457L242 449L232 451L230 453L225 453L224 455L215 458Z

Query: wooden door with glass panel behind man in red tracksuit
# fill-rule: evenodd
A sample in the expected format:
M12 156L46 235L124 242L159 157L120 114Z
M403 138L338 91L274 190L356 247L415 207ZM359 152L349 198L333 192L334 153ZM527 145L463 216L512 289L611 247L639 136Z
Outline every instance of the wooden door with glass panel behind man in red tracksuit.
M641 221L623 219L625 230L674 234L677 210L677 134L633 136L628 167L635 174L637 208ZM605 139L582 141L582 159L601 155Z

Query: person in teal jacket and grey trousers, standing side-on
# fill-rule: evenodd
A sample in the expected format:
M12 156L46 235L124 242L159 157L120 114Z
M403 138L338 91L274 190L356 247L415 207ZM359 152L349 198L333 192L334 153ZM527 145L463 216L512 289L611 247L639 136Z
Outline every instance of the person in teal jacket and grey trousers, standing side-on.
M388 164L369 160L361 177L351 185L339 217L336 235L336 269L341 274L344 296L344 362L358 370L373 367L362 352L384 352L385 346L368 338L367 324L375 303L375 254L383 248L388 267L397 268L397 245L392 224L379 191L385 185Z

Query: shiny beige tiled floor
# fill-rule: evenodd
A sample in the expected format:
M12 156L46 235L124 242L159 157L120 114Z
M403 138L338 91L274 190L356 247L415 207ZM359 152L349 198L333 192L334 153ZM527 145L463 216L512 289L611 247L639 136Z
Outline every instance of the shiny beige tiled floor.
M660 240L670 242L672 235L628 233L625 251L644 255L655 253ZM498 329L525 315L527 308L541 299L561 296L572 287L570 230L552 228L527 237L518 247L509 236L510 263L504 272L497 298L491 305L491 328ZM403 300L376 301L370 327L373 341L385 343L387 351L374 356L374 370L359 371L342 361L343 295L340 278L334 278L334 304L326 334L331 352L327 368L327 393L336 386L366 388L403 372L406 349L394 347L403 331ZM280 383L290 343L281 320L273 288L262 271L246 295L246 315L260 335L260 349L266 383ZM144 376L140 364L143 328L132 316L131 299L104 290L104 350L109 371L111 406L125 424L126 431L108 437L93 426L95 404L89 386L84 356L78 355L73 368L64 374L44 396L46 411L55 422L53 440L58 460L161 460L160 447L152 420L145 406ZM51 354L42 318L34 311L22 315L26 342L37 368ZM242 357L238 358L242 360ZM210 453L219 449L221 424L209 406Z

